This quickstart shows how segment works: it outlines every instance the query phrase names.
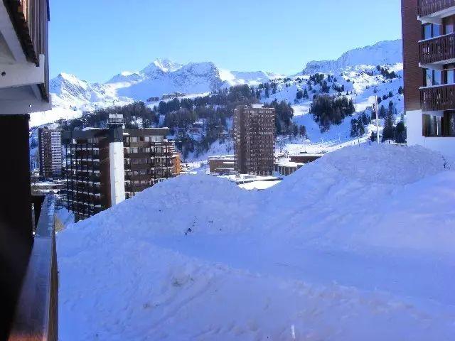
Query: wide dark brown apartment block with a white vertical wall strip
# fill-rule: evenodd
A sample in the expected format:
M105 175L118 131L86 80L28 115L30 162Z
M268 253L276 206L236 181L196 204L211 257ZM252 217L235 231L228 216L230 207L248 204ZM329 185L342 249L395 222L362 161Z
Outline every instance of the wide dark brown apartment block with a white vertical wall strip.
M109 115L108 129L63 131L67 207L76 220L175 176L167 134L167 128L124 129L122 115Z

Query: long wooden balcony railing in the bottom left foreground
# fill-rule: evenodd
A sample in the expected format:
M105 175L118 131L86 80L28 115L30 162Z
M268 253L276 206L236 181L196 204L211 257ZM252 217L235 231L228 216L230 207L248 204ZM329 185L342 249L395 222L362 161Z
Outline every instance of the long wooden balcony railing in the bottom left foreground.
M55 197L45 197L9 341L58 340Z

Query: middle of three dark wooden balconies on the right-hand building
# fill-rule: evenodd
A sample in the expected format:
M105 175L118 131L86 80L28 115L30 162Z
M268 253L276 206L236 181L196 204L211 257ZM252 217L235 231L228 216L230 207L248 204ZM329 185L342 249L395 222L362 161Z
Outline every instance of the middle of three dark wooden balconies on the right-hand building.
M454 61L455 33L419 42L419 62L422 67L428 67L429 64L448 64Z

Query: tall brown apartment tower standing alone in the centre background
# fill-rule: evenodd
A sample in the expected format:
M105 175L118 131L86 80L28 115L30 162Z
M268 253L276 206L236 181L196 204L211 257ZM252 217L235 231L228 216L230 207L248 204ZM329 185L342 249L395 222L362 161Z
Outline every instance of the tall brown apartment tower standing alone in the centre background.
M234 113L235 170L271 175L274 169L275 109L239 106Z

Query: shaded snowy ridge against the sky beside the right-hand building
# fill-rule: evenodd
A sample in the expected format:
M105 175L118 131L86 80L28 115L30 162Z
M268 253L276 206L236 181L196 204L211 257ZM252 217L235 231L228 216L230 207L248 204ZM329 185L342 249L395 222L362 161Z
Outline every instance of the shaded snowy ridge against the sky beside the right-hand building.
M337 60L309 62L302 73L304 75L313 75L316 72L333 73L358 65L392 65L401 62L402 40L389 40L350 50Z

